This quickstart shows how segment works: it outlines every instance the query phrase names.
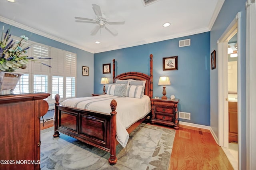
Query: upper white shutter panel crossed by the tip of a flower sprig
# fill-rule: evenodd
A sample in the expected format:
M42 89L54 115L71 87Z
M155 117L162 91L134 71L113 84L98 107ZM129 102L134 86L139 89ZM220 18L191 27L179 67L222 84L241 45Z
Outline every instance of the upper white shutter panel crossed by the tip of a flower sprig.
M32 63L32 73L49 74L50 67L46 66L50 65L50 59L46 59L49 58L49 46L39 43L32 44L31 53L32 57L36 60Z

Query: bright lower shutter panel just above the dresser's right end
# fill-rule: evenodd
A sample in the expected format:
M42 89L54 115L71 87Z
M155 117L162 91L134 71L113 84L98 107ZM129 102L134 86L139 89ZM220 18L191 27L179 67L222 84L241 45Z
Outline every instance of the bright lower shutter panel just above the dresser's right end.
M48 93L48 76L34 75L34 93Z

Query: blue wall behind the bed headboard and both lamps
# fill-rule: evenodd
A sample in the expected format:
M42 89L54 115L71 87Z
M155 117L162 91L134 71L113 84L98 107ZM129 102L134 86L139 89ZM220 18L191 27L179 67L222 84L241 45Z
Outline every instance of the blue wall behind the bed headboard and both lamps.
M191 46L179 47L179 40L191 39ZM167 97L180 99L178 110L191 113L191 120L180 121L210 126L210 32L162 42L94 54L94 93L102 93L101 77L112 83L112 72L102 73L102 64L116 59L116 75L129 71L150 74L149 55L153 54L153 96L162 96L159 77L170 77ZM178 70L163 71L162 58L178 55ZM112 65L111 65L112 68ZM108 85L106 85L107 89Z

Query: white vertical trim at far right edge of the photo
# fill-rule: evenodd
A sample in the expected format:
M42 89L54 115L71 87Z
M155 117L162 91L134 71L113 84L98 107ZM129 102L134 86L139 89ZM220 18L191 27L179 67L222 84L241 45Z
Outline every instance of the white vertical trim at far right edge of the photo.
M246 168L256 169L256 4L246 2Z

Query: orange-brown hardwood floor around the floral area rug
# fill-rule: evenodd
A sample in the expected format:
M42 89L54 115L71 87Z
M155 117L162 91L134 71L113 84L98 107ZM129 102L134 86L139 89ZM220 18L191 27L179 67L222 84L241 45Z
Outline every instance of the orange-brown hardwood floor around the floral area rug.
M41 130L52 126L53 121L47 121L44 127L41 123ZM180 129L176 130L168 170L233 170L233 168L222 148L216 144L210 130L180 125Z

